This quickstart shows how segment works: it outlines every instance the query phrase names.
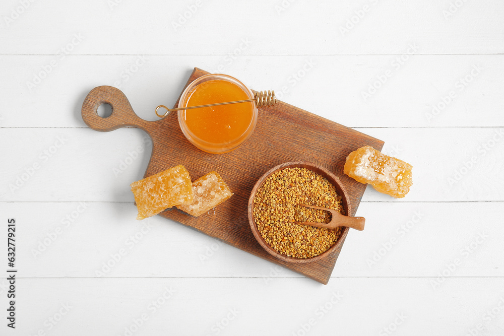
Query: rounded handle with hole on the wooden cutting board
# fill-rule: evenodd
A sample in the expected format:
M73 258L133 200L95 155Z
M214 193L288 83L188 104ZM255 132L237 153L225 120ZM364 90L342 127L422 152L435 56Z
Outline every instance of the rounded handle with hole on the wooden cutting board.
M98 115L98 106L109 104L112 114L108 117ZM121 90L112 86L99 86L91 90L82 104L82 119L92 129L108 132L120 127L133 126L146 130L152 121L140 118L131 107L130 101Z

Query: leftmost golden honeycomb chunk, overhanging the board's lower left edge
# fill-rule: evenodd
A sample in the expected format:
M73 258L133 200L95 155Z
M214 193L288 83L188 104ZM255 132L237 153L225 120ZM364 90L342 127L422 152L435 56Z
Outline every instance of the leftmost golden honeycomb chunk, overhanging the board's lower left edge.
M193 203L191 177L182 165L133 182L130 186L135 194L138 220L157 215L166 208Z

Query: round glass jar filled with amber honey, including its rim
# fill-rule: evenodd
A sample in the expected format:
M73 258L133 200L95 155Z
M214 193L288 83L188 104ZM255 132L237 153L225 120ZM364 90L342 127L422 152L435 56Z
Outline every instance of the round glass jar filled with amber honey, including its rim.
M226 75L206 75L191 83L179 107L199 106L254 98L238 80ZM209 153L226 153L243 143L257 122L254 102L202 107L178 112L187 140Z

